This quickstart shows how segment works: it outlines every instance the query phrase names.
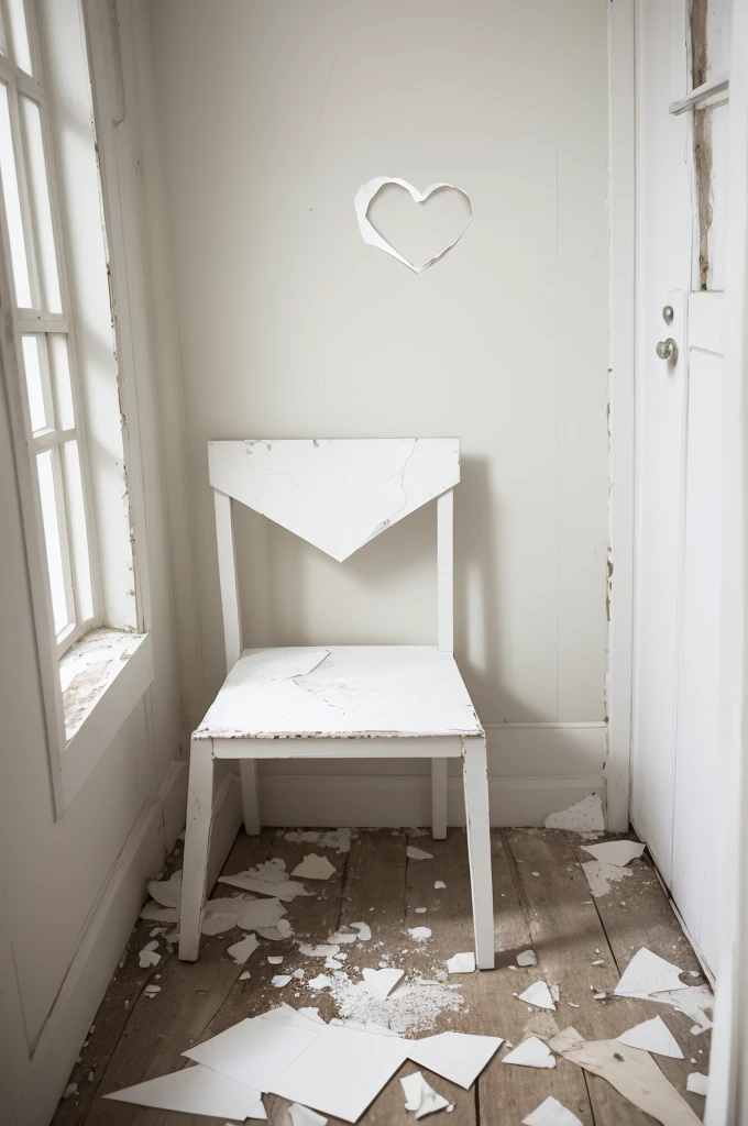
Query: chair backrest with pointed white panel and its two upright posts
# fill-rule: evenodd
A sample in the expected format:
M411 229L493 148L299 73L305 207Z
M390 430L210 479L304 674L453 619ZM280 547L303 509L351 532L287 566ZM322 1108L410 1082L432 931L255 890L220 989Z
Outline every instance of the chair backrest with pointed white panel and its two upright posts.
M241 652L232 501L342 562L438 498L438 644L453 651L453 492L458 438L326 438L208 443L221 606L231 668Z

